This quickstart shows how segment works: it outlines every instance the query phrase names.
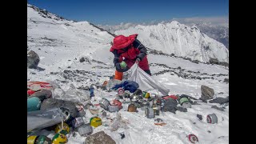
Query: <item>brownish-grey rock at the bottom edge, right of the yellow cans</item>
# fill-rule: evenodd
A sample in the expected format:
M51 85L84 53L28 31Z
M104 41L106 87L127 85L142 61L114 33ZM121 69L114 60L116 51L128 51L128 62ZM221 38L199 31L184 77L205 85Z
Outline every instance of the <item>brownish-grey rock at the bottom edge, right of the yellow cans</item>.
M87 144L115 144L114 139L111 138L104 131L99 131L98 133L91 134L86 138Z

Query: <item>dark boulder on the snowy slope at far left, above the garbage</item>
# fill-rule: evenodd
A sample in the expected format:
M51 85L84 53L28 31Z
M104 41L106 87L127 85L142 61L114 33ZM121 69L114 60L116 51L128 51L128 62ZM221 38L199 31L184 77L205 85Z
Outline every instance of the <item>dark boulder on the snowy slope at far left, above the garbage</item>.
M36 69L39 62L40 58L38 54L36 54L33 50L30 50L30 52L27 54L27 67L30 69Z

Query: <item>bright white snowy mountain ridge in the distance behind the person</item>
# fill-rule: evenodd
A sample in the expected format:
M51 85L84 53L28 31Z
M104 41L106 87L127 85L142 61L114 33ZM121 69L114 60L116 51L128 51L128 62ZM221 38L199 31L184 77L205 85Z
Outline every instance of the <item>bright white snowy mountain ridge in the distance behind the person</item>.
M226 47L202 34L196 26L185 26L173 21L151 26L135 26L126 30L117 30L115 34L138 34L138 39L150 49L162 50L166 54L175 54L200 62L210 62L217 58L219 62L229 62Z

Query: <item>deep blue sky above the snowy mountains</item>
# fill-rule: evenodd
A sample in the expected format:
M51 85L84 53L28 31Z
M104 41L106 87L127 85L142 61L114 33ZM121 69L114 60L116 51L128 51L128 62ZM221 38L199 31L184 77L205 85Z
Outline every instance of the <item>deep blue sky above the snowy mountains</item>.
M70 20L102 25L229 15L228 0L28 0L27 2Z

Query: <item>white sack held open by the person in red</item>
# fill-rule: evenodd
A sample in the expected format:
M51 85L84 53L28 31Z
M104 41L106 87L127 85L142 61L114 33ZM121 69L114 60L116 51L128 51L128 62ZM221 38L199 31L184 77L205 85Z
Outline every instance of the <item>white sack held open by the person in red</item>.
M163 86L160 82L154 80L154 78L152 78L149 74L146 74L144 70L138 67L137 63L134 63L134 65L130 67L130 70L131 74L128 80L137 82L140 90L158 90L163 95L168 95L170 90Z

